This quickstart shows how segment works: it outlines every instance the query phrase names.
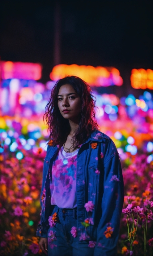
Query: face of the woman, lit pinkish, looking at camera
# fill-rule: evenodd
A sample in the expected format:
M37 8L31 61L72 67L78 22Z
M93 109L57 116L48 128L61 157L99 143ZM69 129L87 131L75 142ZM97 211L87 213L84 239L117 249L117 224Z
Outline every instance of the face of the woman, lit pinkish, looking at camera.
M73 87L70 84L62 85L57 98L61 115L71 121L78 121L81 111L81 99Z

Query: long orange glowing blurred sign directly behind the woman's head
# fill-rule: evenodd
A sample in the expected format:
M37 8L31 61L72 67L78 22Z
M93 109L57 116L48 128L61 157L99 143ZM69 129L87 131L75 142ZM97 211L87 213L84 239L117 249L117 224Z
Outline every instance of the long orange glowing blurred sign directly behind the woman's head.
M123 79L117 68L104 68L100 66L95 68L93 66L79 66L76 64L59 64L53 67L50 79L57 81L67 75L80 77L91 86L121 86L123 84Z

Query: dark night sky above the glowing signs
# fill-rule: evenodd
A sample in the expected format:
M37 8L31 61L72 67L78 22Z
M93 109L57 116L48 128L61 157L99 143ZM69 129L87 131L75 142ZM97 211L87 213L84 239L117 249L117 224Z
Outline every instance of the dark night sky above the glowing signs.
M61 63L115 66L125 83L132 68L153 69L153 1L59 3ZM43 82L54 66L55 6L55 0L0 3L1 60L42 63Z

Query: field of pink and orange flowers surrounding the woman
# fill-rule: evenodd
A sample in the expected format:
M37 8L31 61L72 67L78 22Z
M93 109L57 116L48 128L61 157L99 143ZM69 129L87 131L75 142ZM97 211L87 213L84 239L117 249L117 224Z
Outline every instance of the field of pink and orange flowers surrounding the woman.
M112 114L105 108L106 103L104 113L97 114L100 130L113 139L121 158L125 201L118 255L123 256L153 255L153 110L151 107L146 110L147 104L142 107L143 101L141 98L137 105L126 105L120 100L114 105L116 113ZM115 107L112 109L116 110ZM0 117L2 256L43 255L36 229L40 221L42 167L47 142L48 132L42 115L30 119L21 115ZM107 230L107 233L110 232ZM109 234L108 239L111 239Z

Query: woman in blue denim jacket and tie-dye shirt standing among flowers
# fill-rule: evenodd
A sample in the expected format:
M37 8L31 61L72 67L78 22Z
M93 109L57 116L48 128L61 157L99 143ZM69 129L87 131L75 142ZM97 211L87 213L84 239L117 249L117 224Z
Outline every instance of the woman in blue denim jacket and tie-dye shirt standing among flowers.
M117 254L121 163L113 141L97 130L94 104L90 86L71 76L57 81L46 106L50 141L37 235L49 256Z

